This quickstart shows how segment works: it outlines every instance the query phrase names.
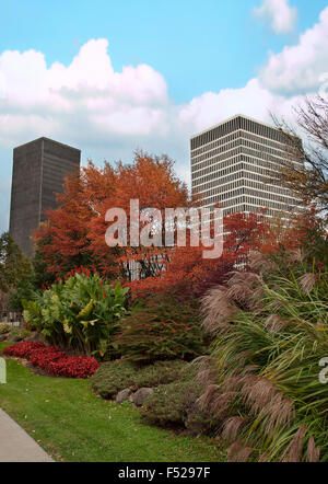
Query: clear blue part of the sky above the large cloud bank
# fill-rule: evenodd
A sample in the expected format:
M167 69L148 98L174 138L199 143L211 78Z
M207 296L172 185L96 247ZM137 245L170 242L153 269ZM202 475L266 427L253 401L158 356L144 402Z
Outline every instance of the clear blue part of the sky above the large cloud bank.
M68 66L91 38L107 38L116 71L141 62L161 72L171 96L188 102L206 91L241 88L268 51L297 42L327 0L294 0L294 32L276 35L253 14L251 0L2 1L0 51L40 50Z

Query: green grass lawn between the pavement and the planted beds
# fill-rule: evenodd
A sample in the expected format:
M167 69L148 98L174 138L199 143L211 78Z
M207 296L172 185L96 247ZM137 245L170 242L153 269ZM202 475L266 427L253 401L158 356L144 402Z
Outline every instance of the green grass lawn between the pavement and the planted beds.
M0 343L0 352L8 343ZM222 451L208 438L176 436L141 423L129 403L97 399L87 380L36 376L7 360L0 407L58 461L178 462L220 461Z

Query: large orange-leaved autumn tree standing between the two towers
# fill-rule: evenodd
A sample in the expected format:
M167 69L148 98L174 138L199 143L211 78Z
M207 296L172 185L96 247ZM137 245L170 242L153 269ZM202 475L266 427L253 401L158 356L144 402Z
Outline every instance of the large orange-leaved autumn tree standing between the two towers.
M164 216L167 207L191 206L187 186L176 177L168 157L138 152L132 163L118 162L116 166L105 163L101 169L90 162L79 177L66 181L65 188L65 193L58 195L59 208L47 214L48 222L35 233L50 273L62 274L72 265L92 264L99 270L129 280L132 277L131 261L139 263L141 277L155 276L163 270L171 247L133 246L130 243L124 247L109 247L105 234L109 227L106 214L110 208L125 210L130 228L131 199L138 200L143 215L149 207ZM141 217L140 230L149 222L147 217L143 220Z

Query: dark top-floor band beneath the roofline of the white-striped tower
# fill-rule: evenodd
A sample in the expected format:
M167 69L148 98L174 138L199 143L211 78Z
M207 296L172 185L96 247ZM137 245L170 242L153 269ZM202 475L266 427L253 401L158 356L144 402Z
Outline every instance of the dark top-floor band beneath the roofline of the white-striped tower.
M249 132L254 132L255 135L262 136L265 138L272 139L273 141L286 142L286 135L282 131L271 128L269 126L265 126L260 123L254 122L251 119L247 119L242 116L237 116L226 123L223 123L208 131L191 138L190 147L191 150L195 150L206 143L214 141L218 138L222 138L225 135L229 135L232 131L236 131L238 129L244 129Z

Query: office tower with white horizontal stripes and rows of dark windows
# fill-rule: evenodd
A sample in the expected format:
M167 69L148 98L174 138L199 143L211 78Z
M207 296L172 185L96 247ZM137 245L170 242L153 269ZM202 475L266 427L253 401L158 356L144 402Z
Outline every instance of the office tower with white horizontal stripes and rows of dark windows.
M291 158L289 139L283 131L243 115L194 136L192 193L200 194L207 207L219 201L224 215L267 208L266 214L274 216L295 208L300 200L293 193L270 183Z

